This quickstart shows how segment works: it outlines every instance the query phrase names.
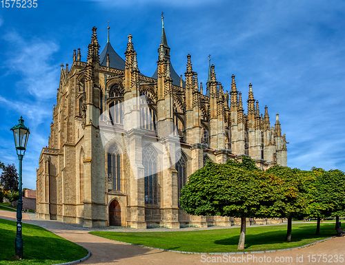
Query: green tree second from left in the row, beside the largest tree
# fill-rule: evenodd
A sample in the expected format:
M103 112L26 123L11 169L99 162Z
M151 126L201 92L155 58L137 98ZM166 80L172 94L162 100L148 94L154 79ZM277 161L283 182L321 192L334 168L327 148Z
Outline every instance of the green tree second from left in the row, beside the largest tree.
M266 170L266 173L276 176L279 182L273 184L273 204L270 204L268 215L288 219L285 241L291 241L293 218L300 218L306 213L308 195L305 185L310 184L307 171L290 169L275 165Z

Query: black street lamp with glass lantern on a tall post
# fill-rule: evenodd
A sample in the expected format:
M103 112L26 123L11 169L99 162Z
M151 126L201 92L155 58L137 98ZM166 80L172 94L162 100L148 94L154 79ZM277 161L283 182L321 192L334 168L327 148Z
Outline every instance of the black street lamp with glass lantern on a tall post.
M13 131L14 136L14 143L16 145L17 149L17 156L19 159L19 200L17 204L17 236L16 236L16 251L15 256L16 259L22 259L23 258L23 237L21 237L21 209L23 209L23 196L21 194L21 163L23 162L23 156L25 154L26 150L26 144L28 143L28 138L30 134L29 128L24 126L24 120L23 117L18 120L18 125L14 125L14 127L11 129Z

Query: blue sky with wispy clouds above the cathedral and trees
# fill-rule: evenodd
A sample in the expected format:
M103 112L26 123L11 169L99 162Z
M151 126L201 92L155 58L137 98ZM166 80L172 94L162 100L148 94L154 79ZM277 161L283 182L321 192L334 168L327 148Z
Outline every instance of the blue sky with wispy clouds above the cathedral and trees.
M35 189L41 148L48 145L59 65L72 65L79 47L86 61L94 25L102 50L110 21L112 47L124 58L132 34L139 70L152 76L161 12L177 74L186 72L190 53L199 82L206 83L211 54L224 90L235 74L244 100L253 84L271 124L279 113L289 167L345 171L344 1L38 0L37 8L0 6L0 160L18 165L10 128L23 115L31 132L23 187Z

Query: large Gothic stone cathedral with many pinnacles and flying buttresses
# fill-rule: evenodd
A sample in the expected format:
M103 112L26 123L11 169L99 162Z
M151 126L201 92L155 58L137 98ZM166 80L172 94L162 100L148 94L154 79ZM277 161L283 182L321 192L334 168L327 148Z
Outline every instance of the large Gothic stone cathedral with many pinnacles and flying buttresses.
M210 60L206 84L199 83L190 54L179 76L163 23L152 77L139 71L144 62L133 43L129 35L122 59L108 28L99 54L94 27L87 59L78 49L70 67L61 65L48 147L37 169L38 217L85 227L230 226L234 218L186 214L179 191L209 159L225 163L246 155L262 169L286 166L278 114L271 126L251 84L245 113L235 76L224 92Z

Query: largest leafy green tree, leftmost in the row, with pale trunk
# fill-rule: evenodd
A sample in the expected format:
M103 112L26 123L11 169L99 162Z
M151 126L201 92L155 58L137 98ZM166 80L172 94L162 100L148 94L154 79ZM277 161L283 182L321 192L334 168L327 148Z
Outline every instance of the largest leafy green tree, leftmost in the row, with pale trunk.
M255 162L248 157L243 157L242 163L228 160L222 165L208 160L205 167L189 177L179 200L182 208L191 215L241 218L238 249L242 250L246 218L262 217L264 211L259 209L272 193L269 182L268 174L255 167Z

